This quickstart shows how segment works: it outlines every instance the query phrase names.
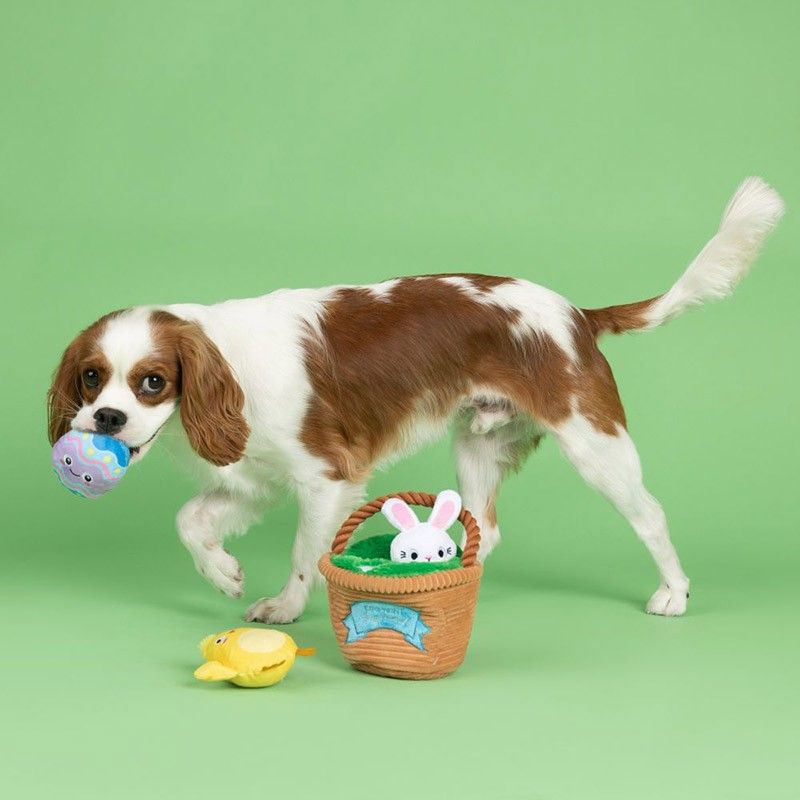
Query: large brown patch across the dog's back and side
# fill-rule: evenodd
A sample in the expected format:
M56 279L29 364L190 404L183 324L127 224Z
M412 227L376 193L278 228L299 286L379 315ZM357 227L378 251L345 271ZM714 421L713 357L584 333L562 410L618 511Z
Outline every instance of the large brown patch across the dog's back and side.
M300 438L333 477L362 480L415 415L447 417L478 386L550 425L571 413L569 356L547 334L515 335L518 311L470 297L446 277L402 278L380 299L366 287L339 289L320 335L309 331L314 391ZM457 277L487 293L510 280Z

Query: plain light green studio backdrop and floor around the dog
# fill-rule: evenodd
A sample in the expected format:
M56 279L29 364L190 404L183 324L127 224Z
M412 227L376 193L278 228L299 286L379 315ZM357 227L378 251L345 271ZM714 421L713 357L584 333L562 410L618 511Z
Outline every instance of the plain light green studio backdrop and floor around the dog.
M0 33L3 793L800 797L795 2L6 2ZM546 442L501 495L463 667L319 654L199 684L198 640L280 589L287 500L216 594L155 448L96 504L49 467L44 394L103 312L470 270L580 305L665 289L748 174L789 213L731 300L609 340L692 578L656 575ZM443 442L370 493L453 485ZM7 795L8 796L8 795Z

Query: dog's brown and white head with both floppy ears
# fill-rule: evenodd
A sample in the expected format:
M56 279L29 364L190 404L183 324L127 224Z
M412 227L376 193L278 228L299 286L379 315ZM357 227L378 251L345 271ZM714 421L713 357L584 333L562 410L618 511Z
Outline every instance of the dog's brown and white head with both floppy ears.
M50 442L110 434L141 458L176 408L194 450L224 466L244 453L244 394L196 322L136 308L102 317L64 352L47 398Z

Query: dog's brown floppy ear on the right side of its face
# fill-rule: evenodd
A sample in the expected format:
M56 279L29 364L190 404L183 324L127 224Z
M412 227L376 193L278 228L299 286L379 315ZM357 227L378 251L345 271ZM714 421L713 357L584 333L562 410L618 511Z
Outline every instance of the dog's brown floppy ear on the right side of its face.
M244 455L250 426L242 414L244 392L217 346L196 322L159 312L177 333L181 368L181 422L192 448L224 467Z

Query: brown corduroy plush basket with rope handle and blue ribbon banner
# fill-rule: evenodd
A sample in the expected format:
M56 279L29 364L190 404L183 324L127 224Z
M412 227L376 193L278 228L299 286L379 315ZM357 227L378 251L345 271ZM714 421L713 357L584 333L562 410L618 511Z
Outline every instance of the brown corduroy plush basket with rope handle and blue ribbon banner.
M391 497L432 508L436 497L399 492L354 511L319 562L328 583L331 622L344 657L356 668L390 678L421 680L453 672L467 651L483 568L477 563L480 529L462 509L466 531L461 566L422 575L351 572L332 563L353 531Z

